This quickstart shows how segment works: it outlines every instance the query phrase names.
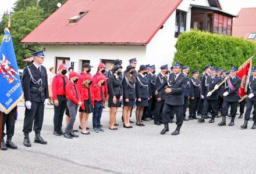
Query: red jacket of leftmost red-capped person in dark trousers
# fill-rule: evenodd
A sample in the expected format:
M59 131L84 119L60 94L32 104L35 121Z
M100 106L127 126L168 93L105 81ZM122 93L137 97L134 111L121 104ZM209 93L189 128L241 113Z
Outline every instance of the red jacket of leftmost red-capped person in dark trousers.
M66 95L66 92L63 88L63 76L61 74L55 75L55 77L52 79L52 96L54 100L57 100L57 95ZM69 79L65 77L66 84L69 83Z

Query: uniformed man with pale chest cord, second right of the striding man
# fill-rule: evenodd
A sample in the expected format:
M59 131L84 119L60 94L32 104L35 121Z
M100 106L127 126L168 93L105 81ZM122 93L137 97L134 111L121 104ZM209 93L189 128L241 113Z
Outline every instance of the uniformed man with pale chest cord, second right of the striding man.
M192 71L193 76L189 79L191 86L191 97L190 97L190 107L189 107L189 119L197 118L197 109L200 100L200 79L198 79L199 72L197 70Z

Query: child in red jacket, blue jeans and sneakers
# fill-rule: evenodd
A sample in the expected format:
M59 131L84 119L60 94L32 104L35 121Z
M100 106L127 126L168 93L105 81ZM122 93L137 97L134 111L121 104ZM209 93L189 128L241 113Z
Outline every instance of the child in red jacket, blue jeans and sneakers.
M93 84L95 100L93 110L93 132L98 133L104 132L104 130L101 128L101 114L106 100L106 96L108 96L108 92L106 92L105 89L105 75L97 75L97 78L94 78Z

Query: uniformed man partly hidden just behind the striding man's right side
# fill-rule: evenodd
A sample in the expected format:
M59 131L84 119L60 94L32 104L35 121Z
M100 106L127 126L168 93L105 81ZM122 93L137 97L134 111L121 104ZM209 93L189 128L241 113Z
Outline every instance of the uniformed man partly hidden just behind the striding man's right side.
M186 89L184 92L184 105L183 105L183 120L184 121L189 121L189 118L186 118L186 111L187 111L187 102L190 99L190 82L189 82L189 70L190 67L189 66L184 66L182 67L182 73L185 75L185 77L187 77L187 85L186 85Z

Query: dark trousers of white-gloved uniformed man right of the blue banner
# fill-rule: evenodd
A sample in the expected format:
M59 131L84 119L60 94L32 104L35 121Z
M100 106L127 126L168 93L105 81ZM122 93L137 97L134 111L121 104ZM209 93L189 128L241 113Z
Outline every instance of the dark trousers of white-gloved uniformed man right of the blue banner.
M23 125L23 132L30 133L32 132L32 127L34 123L35 132L41 132L42 121L44 120L44 103L43 102L34 102L31 101L31 109L26 108L25 118Z

